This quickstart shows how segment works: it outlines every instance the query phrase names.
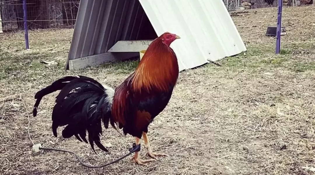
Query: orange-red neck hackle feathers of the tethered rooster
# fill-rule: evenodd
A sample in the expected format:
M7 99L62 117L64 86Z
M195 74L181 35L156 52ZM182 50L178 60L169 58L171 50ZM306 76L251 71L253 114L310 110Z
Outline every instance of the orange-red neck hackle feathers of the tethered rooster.
M178 62L173 49L162 41L154 41L146 50L135 71L132 86L134 89L168 91L177 82Z

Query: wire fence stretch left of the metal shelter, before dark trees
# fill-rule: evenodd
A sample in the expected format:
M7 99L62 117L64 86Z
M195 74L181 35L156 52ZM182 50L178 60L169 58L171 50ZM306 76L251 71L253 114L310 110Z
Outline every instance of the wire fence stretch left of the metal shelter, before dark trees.
M27 0L28 29L72 28L80 0ZM0 0L3 31L24 30L22 0Z

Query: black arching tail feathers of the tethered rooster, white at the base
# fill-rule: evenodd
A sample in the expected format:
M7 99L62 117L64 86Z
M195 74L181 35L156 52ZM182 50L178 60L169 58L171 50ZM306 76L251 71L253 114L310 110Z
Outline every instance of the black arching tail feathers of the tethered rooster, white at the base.
M99 82L86 76L65 76L35 94L36 103L33 116L37 116L38 105L43 96L61 90L56 97L52 112L52 130L57 137L57 128L66 126L62 131L64 138L75 136L79 141L94 143L103 151L108 151L100 143L101 122L105 128L112 119L111 106L114 89L103 87ZM89 134L86 139L86 132ZM95 150L94 150L95 152Z

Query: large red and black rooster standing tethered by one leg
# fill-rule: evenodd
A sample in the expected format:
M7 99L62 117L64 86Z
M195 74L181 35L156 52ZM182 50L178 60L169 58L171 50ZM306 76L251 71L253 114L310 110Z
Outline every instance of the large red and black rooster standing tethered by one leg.
M143 137L146 154L153 159L142 160L139 152L135 152L131 160L137 164L145 165L157 156L168 156L152 151L147 132L149 124L169 103L177 83L178 62L170 44L178 38L169 32L157 37L136 70L115 90L86 76L65 76L56 80L35 94L33 116L37 116L37 108L45 95L61 90L52 111L55 137L57 128L66 126L62 130L63 138L75 136L79 141L89 143L94 152L94 144L108 151L100 142L103 122L106 129L110 124L117 131L123 129L124 135L135 137L136 145Z

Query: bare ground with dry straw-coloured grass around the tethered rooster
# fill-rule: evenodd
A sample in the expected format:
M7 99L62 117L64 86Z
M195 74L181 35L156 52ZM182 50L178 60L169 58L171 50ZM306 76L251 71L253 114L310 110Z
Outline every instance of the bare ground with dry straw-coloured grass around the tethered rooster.
M108 155L100 150L95 155L89 144L75 138L53 137L50 116L57 93L42 100L37 117L30 113L34 94L64 75L90 76L115 87L138 62L64 71L73 30L31 31L28 51L23 33L1 34L0 174L314 174L306 167L315 167L315 6L284 8L288 35L282 37L279 55L274 54L275 39L265 36L267 26L276 25L276 10L232 17L246 55L222 59L222 67L208 64L180 73L169 105L149 127L153 150L170 157L146 167L129 156L88 169L68 153L34 153L27 129L29 116L35 143L75 151L93 165L126 154L134 138L113 129L102 137L102 143L113 145Z

